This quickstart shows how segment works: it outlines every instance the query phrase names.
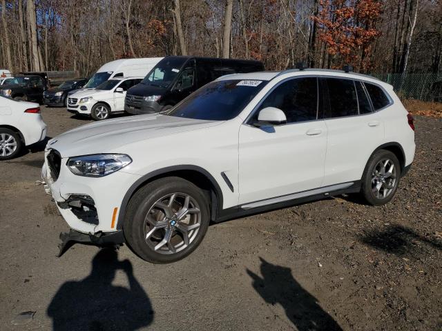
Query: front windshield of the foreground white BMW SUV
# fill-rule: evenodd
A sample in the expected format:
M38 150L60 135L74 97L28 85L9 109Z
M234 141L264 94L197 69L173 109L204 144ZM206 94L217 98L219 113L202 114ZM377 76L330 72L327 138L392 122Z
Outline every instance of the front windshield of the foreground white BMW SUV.
M213 81L184 99L168 116L209 121L227 121L238 116L267 81Z

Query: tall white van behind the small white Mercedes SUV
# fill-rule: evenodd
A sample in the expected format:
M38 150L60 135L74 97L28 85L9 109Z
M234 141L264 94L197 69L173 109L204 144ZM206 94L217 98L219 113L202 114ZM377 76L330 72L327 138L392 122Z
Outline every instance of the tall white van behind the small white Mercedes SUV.
M104 64L93 77L90 77L83 90L97 88L101 83L112 78L144 77L151 69L162 60L162 57L146 57L141 59L120 59ZM74 94L77 90L68 93Z

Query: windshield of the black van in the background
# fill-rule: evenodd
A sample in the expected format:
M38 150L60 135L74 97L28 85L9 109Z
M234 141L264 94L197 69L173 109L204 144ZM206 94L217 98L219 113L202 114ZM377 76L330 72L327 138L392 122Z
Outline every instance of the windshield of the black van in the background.
M180 72L186 57L166 57L157 63L155 67L144 77L142 83L150 86L167 88Z

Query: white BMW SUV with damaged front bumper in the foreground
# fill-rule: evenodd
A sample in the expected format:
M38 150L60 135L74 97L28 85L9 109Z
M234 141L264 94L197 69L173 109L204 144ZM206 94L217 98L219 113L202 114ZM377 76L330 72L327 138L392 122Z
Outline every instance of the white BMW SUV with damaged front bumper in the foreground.
M165 114L113 119L49 141L48 192L64 243L124 240L169 263L209 222L361 192L390 201L414 159L413 119L392 86L337 70L220 77Z

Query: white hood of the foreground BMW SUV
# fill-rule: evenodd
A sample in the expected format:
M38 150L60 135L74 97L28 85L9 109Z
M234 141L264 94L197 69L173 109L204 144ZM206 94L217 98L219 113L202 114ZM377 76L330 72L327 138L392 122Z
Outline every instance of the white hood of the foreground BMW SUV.
M46 148L58 150L61 157L124 152L130 143L198 130L220 124L219 121L184 119L160 114L138 115L99 121L80 126L48 141Z

